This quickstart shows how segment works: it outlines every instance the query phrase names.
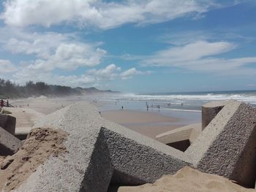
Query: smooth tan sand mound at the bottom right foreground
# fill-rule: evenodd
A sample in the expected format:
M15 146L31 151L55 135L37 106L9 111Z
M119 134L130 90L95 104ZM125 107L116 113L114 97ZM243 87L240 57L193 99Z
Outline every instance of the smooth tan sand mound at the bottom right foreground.
M153 184L135 187L120 187L118 192L249 192L224 177L206 174L188 166L174 175L165 175Z

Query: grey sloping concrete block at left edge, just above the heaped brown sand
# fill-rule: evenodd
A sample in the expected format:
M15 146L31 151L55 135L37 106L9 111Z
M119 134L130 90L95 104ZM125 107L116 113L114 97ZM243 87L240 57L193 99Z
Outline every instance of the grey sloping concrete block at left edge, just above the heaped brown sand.
M0 155L12 155L21 145L19 139L0 127Z

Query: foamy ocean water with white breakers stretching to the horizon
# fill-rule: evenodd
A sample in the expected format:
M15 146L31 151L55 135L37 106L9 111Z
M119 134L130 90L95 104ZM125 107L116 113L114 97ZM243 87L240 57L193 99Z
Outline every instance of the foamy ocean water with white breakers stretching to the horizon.
M94 96L94 99L112 102L107 107L113 108L113 110L121 106L140 110L148 105L150 110L151 108L156 110L160 107L162 110L200 111L203 104L227 99L236 99L256 106L256 91L155 93L143 95L130 93Z

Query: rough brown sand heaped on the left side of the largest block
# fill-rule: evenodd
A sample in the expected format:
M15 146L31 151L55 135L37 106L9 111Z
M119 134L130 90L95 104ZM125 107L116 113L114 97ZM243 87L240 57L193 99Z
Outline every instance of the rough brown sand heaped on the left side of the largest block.
M17 188L50 155L66 152L66 134L53 128L34 128L17 153L1 160L0 191Z

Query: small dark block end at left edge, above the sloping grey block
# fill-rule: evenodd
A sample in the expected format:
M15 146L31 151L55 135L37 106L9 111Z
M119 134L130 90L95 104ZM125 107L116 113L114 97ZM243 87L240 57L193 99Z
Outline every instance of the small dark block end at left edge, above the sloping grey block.
M10 115L0 114L0 126L10 134L15 135L16 118Z

